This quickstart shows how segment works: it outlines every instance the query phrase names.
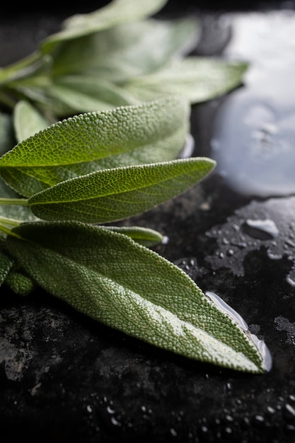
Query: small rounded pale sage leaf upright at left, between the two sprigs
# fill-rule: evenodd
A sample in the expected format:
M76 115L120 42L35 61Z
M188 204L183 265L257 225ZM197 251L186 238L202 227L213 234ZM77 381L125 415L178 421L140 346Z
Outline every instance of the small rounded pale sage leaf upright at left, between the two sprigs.
M31 103L20 100L13 108L13 125L16 131L16 139L18 142L22 142L36 134L36 132L50 126L50 122Z

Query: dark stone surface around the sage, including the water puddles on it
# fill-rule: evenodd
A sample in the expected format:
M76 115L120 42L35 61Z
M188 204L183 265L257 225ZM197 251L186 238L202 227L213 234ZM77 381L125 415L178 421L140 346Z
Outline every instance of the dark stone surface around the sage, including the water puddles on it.
M185 195L128 221L168 236L156 251L241 313L265 339L272 370L256 376L193 362L41 290L21 298L2 287L1 441L295 441L295 95L287 81L295 14L293 2L284 5L202 14L196 53L252 63L242 88L192 108L194 154L220 166ZM30 52L61 16L38 17L1 18L2 65Z

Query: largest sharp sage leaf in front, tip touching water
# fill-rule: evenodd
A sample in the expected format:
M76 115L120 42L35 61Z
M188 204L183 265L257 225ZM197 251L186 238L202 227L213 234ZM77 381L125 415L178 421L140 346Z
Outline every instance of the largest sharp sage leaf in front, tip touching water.
M48 293L127 335L190 359L262 373L249 335L179 267L125 235L75 222L22 224L8 249Z

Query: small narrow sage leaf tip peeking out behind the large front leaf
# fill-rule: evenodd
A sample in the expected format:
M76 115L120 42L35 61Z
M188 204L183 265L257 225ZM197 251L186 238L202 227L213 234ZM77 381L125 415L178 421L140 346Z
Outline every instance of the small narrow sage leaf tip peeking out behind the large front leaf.
M101 227L124 234L132 238L133 241L137 241L137 243L146 247L155 246L165 239L165 236L160 232L150 228L143 228L142 226L100 226L100 228Z

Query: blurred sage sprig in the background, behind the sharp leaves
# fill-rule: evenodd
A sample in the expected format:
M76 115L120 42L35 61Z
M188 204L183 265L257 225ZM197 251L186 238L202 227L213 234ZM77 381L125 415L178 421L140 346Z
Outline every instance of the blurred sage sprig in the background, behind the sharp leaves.
M29 57L0 69L0 104L32 103L50 122L171 94L190 104L241 85L248 64L193 57L197 17L163 20L165 0L114 0L69 17Z

